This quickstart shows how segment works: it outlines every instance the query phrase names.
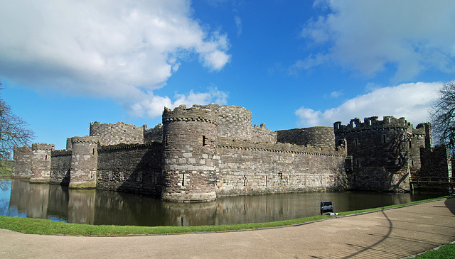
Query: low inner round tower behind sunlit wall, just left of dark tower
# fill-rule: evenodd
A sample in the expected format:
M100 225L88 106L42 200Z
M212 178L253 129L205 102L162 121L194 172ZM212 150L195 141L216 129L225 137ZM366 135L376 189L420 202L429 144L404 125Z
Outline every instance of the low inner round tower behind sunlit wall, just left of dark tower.
M294 128L277 131L277 141L320 148L335 148L333 127Z

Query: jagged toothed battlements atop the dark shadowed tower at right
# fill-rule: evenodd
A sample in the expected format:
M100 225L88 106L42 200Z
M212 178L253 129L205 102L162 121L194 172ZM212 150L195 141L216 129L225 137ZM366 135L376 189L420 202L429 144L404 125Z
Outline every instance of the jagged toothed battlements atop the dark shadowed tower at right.
M394 116L384 116L382 121L378 121L378 116L367 117L363 119L351 119L348 125L342 125L341 121L333 123L335 133L347 133L352 131L365 131L365 130L383 130L390 128L403 128L412 131L412 124L408 123L404 117L396 119Z

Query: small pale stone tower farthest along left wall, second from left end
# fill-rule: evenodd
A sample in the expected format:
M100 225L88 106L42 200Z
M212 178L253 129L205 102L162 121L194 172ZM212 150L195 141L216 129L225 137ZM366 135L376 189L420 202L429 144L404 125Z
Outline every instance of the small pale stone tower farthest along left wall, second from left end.
M53 144L33 143L31 145L30 182L50 182L50 155Z

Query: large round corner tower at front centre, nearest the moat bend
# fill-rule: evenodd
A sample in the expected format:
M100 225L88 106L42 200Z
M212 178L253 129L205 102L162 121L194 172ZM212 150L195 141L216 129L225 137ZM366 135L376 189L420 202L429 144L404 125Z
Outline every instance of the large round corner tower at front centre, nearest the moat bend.
M216 123L213 111L181 105L163 112L164 187L161 199L208 202L216 199Z

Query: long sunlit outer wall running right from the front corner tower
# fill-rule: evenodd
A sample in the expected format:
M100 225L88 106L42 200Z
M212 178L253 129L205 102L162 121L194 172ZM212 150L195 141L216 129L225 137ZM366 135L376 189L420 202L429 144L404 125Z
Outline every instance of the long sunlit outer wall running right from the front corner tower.
M218 140L219 196L346 189L343 150Z

